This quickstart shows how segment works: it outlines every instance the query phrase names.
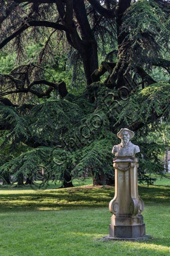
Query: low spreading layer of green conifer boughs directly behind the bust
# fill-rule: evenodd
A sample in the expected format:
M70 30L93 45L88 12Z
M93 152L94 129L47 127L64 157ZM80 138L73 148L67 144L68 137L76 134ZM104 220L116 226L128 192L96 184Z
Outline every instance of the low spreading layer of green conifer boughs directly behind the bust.
M29 111L23 111L23 106L14 108L0 104L0 125L4 121L9 125L3 133L3 143L9 148L12 143L18 148L21 143L25 145L22 147L24 151L21 149L17 156L2 163L1 175L9 172L14 176L22 173L30 177L38 175L38 169L43 168L47 179L61 181L65 172L71 173L73 179L87 170L93 175L102 173L104 177L113 177L111 150L113 144L119 143L116 133L120 125L129 126L132 121L147 124L152 113L161 116L162 120L169 115L170 88L166 82L131 94L126 108L124 100L113 101L114 89L106 88L100 82L93 83L92 87L98 88L94 90L94 103L88 102L87 91L84 91L81 96L68 94L66 99L47 100L31 106ZM161 170L163 164L159 157L164 148L156 144L146 145L138 137L136 139L141 152L145 152L144 159L139 155L141 171ZM3 153L5 149L1 150L1 155Z

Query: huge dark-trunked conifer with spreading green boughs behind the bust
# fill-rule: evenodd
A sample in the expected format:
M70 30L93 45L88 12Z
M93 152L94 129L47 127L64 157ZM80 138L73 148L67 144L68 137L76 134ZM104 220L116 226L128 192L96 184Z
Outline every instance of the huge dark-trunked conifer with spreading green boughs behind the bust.
M16 49L16 64L0 75L0 96L8 96L0 104L1 151L17 152L1 175L31 178L43 165L65 186L87 169L94 183L113 182L110 150L120 127L141 138L169 118L169 1L7 0L0 8L1 58ZM76 93L61 81L71 75ZM145 162L158 164L150 170L163 166L158 147L153 158L151 148L146 153Z

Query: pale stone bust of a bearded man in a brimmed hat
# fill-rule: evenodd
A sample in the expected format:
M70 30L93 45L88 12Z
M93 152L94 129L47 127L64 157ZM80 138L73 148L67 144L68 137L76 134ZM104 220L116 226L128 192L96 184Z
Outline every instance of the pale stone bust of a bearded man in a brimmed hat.
M134 131L128 128L122 128L117 134L118 138L121 138L122 141L120 144L113 146L112 153L116 156L134 156L140 152L139 146L134 145L130 141L134 135Z

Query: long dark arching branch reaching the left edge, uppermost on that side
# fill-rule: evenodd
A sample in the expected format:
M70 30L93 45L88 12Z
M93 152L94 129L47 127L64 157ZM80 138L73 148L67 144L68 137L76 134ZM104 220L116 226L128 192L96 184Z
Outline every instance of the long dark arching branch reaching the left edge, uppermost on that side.
M17 29L14 33L6 37L1 43L0 43L0 49L6 45L10 40L12 40L14 37L22 33L24 30L26 30L30 26L45 26L45 27L52 27L61 31L66 31L65 26L62 24L58 24L55 22L47 21L47 20L29 20L26 21L19 29Z

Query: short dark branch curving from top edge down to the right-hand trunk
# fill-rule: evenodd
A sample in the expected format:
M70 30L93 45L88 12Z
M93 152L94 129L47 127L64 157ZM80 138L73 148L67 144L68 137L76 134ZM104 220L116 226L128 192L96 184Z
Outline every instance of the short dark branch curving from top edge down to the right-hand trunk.
M93 8L95 10L97 10L100 13L100 15L107 17L107 18L116 17L116 15L115 15L116 6L114 6L112 9L106 9L97 0L88 0L88 2L90 2L90 4L93 6Z

